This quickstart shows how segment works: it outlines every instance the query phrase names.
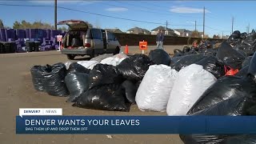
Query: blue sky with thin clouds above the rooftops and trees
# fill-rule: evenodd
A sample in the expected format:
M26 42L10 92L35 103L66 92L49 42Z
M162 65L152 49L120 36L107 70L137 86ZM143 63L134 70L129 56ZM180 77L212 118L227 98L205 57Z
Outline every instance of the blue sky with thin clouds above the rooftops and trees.
M48 1L0 1L1 4L38 5L49 7L0 6L0 18L6 26L25 19L28 22L41 20L54 24L54 0ZM153 30L158 26L171 29L202 31L203 7L206 7L206 34L230 34L232 16L234 30L246 32L256 29L256 1L65 1L58 0L58 6L83 12L58 9L58 21L81 19L101 28L119 28L122 31L134 26ZM90 13L87 13L90 12ZM106 16L133 19L134 22ZM152 22L152 23L149 23Z

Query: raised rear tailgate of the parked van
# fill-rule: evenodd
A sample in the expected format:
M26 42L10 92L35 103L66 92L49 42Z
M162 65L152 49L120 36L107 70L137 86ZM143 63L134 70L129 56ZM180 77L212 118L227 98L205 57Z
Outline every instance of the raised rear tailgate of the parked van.
M76 29L88 29L88 23L81 21L81 20L66 20L66 21L61 21L57 23L58 25L67 25L70 26L71 30L76 30Z

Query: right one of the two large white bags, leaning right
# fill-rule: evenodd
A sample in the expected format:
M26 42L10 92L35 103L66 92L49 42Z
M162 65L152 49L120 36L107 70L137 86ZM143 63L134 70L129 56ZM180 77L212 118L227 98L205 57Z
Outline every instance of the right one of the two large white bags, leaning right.
M192 64L178 72L167 105L168 115L186 115L202 93L208 89L216 78L202 66Z

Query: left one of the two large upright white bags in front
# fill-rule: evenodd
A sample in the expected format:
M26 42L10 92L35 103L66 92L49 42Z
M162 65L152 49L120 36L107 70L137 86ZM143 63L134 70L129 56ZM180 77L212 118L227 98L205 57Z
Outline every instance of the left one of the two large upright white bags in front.
M135 101L140 110L166 111L170 91L178 72L170 66L153 65L138 87Z

